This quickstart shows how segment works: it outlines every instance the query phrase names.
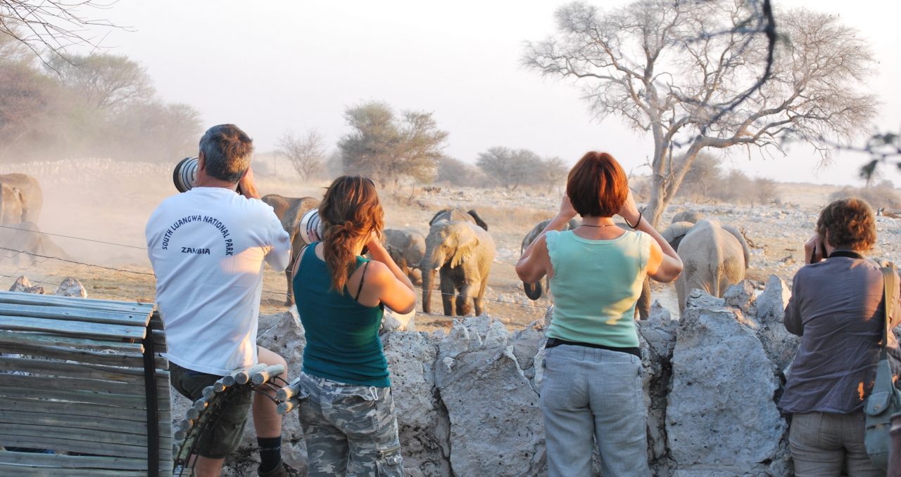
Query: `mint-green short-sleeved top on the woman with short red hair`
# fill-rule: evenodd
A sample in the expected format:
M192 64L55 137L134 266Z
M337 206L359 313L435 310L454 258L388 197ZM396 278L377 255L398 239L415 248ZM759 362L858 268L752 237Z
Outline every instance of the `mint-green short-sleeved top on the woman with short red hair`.
M589 240L572 230L545 235L554 275L548 338L605 347L638 347L635 303L642 294L651 236L626 230Z

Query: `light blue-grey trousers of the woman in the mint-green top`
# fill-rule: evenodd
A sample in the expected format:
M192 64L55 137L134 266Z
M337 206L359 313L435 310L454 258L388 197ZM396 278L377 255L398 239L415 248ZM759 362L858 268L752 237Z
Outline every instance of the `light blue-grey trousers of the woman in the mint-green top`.
M642 360L619 351L560 345L544 351L544 365L548 475L591 475L592 437L604 477L650 475Z

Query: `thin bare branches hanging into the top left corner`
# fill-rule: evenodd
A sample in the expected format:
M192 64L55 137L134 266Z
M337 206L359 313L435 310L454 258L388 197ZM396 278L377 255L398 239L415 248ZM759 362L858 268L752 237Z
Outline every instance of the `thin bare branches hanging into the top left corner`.
M68 47L96 48L100 39L86 33L91 28L119 28L89 14L114 3L114 0L0 0L0 36L12 37L49 64L50 59L65 58Z

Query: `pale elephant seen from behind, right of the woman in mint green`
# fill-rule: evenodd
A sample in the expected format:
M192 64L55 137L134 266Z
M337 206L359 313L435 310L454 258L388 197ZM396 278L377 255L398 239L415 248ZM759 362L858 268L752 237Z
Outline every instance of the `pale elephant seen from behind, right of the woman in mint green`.
M688 293L698 288L722 297L729 285L744 280L750 249L742 233L716 220L699 220L678 246L682 274L676 279L679 314Z

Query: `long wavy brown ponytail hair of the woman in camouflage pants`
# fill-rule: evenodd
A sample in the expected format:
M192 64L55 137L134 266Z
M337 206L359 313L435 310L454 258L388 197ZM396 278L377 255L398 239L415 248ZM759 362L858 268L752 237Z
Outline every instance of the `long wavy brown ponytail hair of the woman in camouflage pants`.
M385 227L376 185L369 177L341 175L325 191L319 218L323 221L323 256L332 274L332 289L344 293L357 265L354 246L373 231L380 238Z

